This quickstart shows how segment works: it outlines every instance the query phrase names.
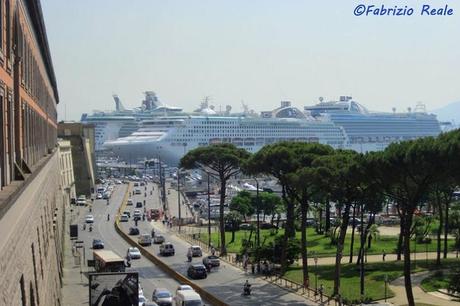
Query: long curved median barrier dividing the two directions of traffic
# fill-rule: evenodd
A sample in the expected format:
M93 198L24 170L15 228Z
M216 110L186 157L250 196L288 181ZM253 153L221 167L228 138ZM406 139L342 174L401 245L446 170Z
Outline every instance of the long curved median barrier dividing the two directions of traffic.
M115 231L131 246L137 247L142 255L144 255L145 258L150 260L152 263L157 265L160 269L162 269L166 274L168 274L170 277L174 278L181 284L187 284L192 286L193 289L195 289L196 292L198 292L201 297L203 297L205 300L208 302L212 303L215 306L229 306L227 303L224 301L220 300L218 297L215 295L211 294L207 290L201 288L185 276L183 276L180 273L177 273L173 269L171 269L166 263L164 263L162 260L160 260L157 256L152 254L149 250L144 248L143 246L139 245L136 241L134 241L129 235L127 235L120 227L120 216L121 212L125 209L126 203L128 201L128 196L129 196L129 191L132 188L131 183L128 185L128 189L126 191L126 194L123 198L123 202L121 203L120 207L118 208L118 215L115 218Z

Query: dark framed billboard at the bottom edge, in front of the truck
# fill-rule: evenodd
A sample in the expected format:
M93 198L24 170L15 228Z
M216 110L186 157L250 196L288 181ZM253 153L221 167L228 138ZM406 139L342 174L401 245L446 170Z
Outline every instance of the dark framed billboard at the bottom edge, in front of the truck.
M138 306L137 272L89 273L90 306Z

